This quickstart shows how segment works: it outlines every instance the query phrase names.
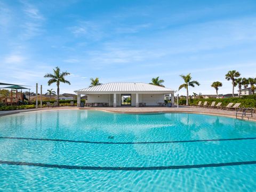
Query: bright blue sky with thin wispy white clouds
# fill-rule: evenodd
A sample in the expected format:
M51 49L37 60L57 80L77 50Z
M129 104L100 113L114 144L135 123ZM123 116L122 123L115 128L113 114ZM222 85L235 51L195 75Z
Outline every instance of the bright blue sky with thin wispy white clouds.
M256 77L255 10L254 0L0 0L0 82L55 90L43 76L59 66L71 73L61 93L89 86L90 77L148 83L160 76L177 90L188 73L201 83L191 94L214 94L213 81L231 93L228 70Z

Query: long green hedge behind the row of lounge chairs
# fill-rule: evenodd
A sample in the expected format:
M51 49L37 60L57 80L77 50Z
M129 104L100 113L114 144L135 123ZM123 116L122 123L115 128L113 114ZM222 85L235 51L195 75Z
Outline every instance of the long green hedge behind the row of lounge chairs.
M215 105L218 102L222 102L221 106L227 106L228 103L233 102L233 103L241 103L240 107L253 107L256 108L256 99L248 99L246 98L224 98L224 99L189 99L189 105L197 105L199 101L208 101L208 105L211 105L212 101L216 101ZM179 105L186 105L186 99L180 99L179 100Z

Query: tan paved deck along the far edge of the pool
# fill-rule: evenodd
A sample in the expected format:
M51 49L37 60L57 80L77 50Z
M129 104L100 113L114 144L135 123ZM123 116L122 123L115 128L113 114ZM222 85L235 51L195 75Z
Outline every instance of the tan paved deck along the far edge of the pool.
M192 113L192 114L206 114L206 115L218 115L226 117L236 117L236 112L233 110L221 110L221 109L210 109L203 107L55 107L55 108L38 108L38 109L21 109L11 111L0 111L0 116L18 114L31 111L48 111L48 110L102 110L111 113L126 113L126 114L143 114L143 113ZM241 115L238 115L239 119L242 119ZM244 117L244 120L256 121L256 114L253 117L250 115Z

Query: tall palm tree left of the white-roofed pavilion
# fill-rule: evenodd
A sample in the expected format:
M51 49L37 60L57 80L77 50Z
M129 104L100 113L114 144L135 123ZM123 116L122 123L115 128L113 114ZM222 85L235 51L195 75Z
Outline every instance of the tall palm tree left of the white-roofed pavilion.
M50 86L53 83L57 84L57 105L59 106L59 96L60 96L60 83L67 83L70 85L70 82L65 79L65 76L70 75L67 71L61 72L59 67L53 69L53 74L47 73L44 78L51 78L48 81L48 85Z

